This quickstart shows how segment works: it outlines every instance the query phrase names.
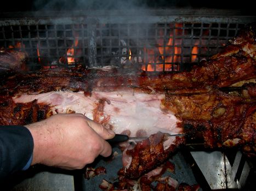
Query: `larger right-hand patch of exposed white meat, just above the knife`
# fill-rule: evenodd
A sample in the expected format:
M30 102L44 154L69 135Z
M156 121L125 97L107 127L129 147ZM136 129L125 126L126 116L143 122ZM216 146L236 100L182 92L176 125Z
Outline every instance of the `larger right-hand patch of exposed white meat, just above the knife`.
M161 110L161 100L164 94L145 94L134 92L93 92L98 98L107 98L104 114L110 115L110 124L116 133L130 130L130 136L136 136L139 129L145 130L147 135L157 133L179 134L178 119L172 112ZM113 112L113 111L116 112Z

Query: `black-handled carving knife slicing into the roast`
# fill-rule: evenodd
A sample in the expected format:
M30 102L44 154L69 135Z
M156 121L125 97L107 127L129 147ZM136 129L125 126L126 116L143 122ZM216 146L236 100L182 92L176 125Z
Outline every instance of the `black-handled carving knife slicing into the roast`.
M169 134L169 133L166 133L166 135L167 136L185 136L184 134ZM139 142L139 141L145 140L147 138L149 138L149 136L138 136L138 137L129 138L129 136L127 136L127 135L116 134L114 136L114 138L108 139L106 141L109 142L109 144L117 144L119 142L124 142L127 140Z

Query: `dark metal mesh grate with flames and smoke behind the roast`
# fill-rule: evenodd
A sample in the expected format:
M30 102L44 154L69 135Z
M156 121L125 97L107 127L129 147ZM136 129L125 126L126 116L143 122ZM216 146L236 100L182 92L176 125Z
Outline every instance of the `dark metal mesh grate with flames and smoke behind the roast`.
M19 46L30 63L40 65L136 64L144 70L182 71L219 52L255 20L151 12L5 19L0 21L0 46Z

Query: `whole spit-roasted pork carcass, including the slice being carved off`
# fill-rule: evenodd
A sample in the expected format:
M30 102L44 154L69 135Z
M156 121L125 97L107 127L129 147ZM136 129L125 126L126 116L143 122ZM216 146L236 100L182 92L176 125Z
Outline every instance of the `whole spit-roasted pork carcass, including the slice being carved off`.
M0 82L0 124L22 125L79 112L116 133L151 135L126 151L128 177L149 171L184 142L168 141L158 132L185 133L212 148L241 146L255 156L255 49L255 29L250 27L209 61L178 74L127 68L18 73ZM241 81L244 88L235 93L220 89ZM139 148L150 152L140 157L151 167L139 162Z

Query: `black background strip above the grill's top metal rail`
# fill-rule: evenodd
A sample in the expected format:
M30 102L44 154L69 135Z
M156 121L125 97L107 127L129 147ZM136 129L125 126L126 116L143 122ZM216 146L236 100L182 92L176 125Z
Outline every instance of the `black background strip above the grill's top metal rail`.
M239 9L252 11L253 1L230 0L20 0L1 2L0 11L38 11L38 10L88 10L88 9L147 9L147 8L213 8ZM5 5L4 5L5 4ZM251 13L251 14L252 14Z

